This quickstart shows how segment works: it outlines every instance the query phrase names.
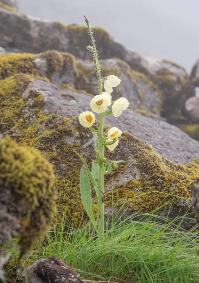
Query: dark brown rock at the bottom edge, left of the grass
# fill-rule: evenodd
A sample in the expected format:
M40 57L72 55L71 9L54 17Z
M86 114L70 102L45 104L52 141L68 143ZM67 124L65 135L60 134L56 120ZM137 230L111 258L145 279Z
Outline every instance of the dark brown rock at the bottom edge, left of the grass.
M28 283L83 283L80 275L71 266L65 265L64 261L55 256L36 260L26 268ZM25 283L24 274L20 276L21 282Z

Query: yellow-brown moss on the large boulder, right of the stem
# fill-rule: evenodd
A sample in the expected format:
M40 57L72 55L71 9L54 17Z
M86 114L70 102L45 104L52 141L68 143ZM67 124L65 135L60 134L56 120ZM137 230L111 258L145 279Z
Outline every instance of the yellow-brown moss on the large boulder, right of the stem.
M134 197L127 206L134 211L144 208L144 211L149 212L161 201L165 204L169 199L173 199L172 196L163 194L169 193L186 199L184 202L182 199L175 199L173 207L179 210L190 207L191 191L199 181L199 160L195 159L186 165L174 164L155 153L151 145L132 135L124 134L127 136L125 146L132 148L130 157L135 162L134 166L140 169L140 173L125 186L114 187L114 204L121 205ZM139 196L149 192L152 193ZM105 205L111 206L111 192L107 193Z

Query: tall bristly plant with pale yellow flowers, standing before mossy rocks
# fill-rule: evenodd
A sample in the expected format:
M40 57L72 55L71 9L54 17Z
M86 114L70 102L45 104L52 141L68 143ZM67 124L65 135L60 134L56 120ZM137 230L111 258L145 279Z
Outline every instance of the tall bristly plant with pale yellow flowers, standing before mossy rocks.
M85 16L84 16L85 17ZM94 146L97 154L97 162L92 163L91 170L88 168L88 165L84 161L83 157L79 154L78 156L83 162L83 166L80 171L80 193L82 198L82 203L84 208L90 217L94 229L98 232L99 240L103 240L104 233L104 175L111 172L112 169L117 168L117 163L122 162L123 160L111 161L107 160L104 156L104 145L111 151L115 149L118 145L121 138L122 131L116 127L111 128L103 132L104 126L104 117L109 116L113 113L115 117L118 117L122 114L123 110L126 110L129 102L126 98L121 97L115 102L111 101L113 92L113 87L118 86L121 82L117 76L111 75L106 78L101 78L98 55L96 50L95 41L91 32L89 20L85 17L86 24L88 26L88 32L90 34L92 45L87 46L86 48L93 54L93 62L98 75L98 84L99 84L99 94L94 96L90 102L90 107L93 112L100 113L100 122L95 119L94 113L90 111L82 112L79 115L79 122L82 126L89 128L93 132L94 136ZM102 84L104 82L105 91L102 92ZM107 107L110 106L113 102L112 108L107 111ZM106 112L107 111L107 112ZM105 113L106 112L106 113ZM92 125L96 123L97 130L92 128ZM107 136L106 136L107 134ZM91 197L91 184L94 186L96 191L96 199L98 202L98 219L97 221L94 218L92 211L92 197Z

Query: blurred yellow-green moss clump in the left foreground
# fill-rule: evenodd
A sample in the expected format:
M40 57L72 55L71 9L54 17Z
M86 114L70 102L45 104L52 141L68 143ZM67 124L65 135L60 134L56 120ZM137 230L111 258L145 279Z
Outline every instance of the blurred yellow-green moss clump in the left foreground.
M53 170L37 149L0 138L0 179L1 187L11 190L14 202L22 208L22 214L15 214L20 219L19 244L24 254L33 237L42 236L55 212Z

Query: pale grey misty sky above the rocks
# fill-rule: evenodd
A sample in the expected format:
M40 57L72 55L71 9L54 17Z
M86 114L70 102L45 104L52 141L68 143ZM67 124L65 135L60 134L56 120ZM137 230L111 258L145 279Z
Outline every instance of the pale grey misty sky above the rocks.
M50 21L105 28L126 47L188 72L199 57L199 0L17 0L19 11Z

